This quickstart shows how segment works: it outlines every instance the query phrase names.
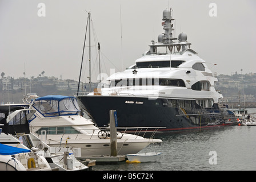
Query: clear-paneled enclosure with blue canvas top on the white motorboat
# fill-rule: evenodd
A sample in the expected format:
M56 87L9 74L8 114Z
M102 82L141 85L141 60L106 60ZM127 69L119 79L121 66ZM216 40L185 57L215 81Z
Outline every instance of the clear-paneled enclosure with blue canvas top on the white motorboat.
M33 106L45 117L74 115L80 111L77 99L74 97L61 100L35 100Z

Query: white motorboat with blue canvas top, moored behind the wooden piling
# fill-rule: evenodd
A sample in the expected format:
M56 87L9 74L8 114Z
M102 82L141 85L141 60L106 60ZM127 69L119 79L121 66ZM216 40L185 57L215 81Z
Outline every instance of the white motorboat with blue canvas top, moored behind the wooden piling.
M41 137L42 142L54 147L81 148L82 159L91 155L111 154L109 129L105 127L101 130L90 119L79 115L75 97L38 97L20 106L30 107L30 104L31 108L37 110L29 123L30 132ZM154 128L154 131L157 130ZM141 137L139 132L136 135L117 132L117 154L137 153L151 143L161 142L161 139Z

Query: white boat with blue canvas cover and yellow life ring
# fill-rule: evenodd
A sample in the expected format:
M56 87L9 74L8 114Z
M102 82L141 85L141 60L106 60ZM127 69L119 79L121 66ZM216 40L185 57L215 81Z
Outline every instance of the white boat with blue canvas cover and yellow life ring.
M10 116L8 113L17 113L17 109L19 108L0 107L0 171L51 171L43 156L29 150L17 138L7 133L6 120L10 119L7 118Z

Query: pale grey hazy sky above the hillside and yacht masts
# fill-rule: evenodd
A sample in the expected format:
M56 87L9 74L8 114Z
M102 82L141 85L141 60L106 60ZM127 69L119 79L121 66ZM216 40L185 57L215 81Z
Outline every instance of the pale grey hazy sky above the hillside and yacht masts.
M45 16L38 16L39 3L45 5ZM217 16L209 15L210 3ZM175 35L186 32L191 48L217 75L256 72L255 0L0 0L0 73L18 78L25 70L26 77L45 71L45 76L78 80L87 12L93 20L92 81L99 73L98 42L102 72L122 71L122 63L129 67L149 50L151 40L157 42L162 12L170 7ZM87 46L84 82L89 76Z

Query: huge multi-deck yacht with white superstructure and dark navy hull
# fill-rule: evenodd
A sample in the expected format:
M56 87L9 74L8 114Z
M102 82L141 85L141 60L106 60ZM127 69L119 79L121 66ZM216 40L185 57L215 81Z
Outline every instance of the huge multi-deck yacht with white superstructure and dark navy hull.
M149 51L94 92L76 97L98 126L117 110L118 126L163 126L160 131L236 125L234 113L218 106L222 94L206 61L190 48L187 35L173 37L171 9L163 11L163 34Z

